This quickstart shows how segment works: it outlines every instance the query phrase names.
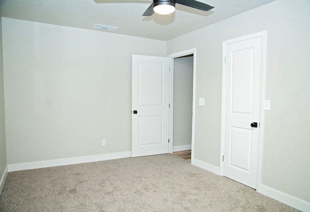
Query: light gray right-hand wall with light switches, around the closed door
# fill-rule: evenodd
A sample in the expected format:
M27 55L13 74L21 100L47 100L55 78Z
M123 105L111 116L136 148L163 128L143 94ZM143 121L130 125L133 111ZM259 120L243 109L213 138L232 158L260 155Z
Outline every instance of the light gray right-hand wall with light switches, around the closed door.
M262 184L310 202L310 1L277 0L167 42L197 48L194 158L219 167L222 42L267 30ZM198 97L205 97L204 107Z

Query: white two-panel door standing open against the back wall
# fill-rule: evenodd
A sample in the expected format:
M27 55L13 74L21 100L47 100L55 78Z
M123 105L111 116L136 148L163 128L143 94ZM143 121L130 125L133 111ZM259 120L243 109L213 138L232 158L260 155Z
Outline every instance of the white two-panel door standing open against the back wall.
M170 59L132 56L132 156L169 152Z

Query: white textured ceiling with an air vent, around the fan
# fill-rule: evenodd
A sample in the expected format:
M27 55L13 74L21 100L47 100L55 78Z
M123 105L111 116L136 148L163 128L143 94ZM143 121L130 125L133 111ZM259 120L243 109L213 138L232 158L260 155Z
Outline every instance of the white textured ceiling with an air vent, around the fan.
M141 16L152 0L0 0L2 17L76 27L118 27L111 33L167 41L274 0L199 0L215 8L203 12L176 4L171 15ZM262 14L263 15L263 14Z

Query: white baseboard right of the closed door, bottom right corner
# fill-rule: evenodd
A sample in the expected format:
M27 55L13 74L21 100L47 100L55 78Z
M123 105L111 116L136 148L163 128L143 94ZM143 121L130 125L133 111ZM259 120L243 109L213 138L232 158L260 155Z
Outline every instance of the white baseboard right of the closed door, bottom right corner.
M284 194L282 192L279 192L275 189L269 188L265 185L260 185L259 193L271 197L273 199L276 199L280 202L283 202L284 204L287 204L289 206L292 206L300 211L303 212L310 212L310 203L305 202L301 199L297 199L296 197L292 197L290 195Z

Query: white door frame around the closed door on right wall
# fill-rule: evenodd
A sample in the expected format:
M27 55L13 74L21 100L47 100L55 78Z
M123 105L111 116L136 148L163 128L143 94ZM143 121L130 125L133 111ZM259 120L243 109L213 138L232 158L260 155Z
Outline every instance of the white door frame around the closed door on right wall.
M224 155L224 128L225 128L225 97L226 97L226 45L236 42L252 39L255 37L262 37L262 75L261 75L261 106L260 106L260 132L259 132L259 147L258 147L258 167L257 167L257 186L256 191L260 192L261 185L261 172L262 172L262 152L263 152L263 128L264 128L264 99L265 99L265 71L266 71L266 37L267 31L261 31L254 34L234 38L223 42L223 55L222 55L222 120L221 120L221 148L220 148L220 165L219 173L224 175L224 162L222 157Z

